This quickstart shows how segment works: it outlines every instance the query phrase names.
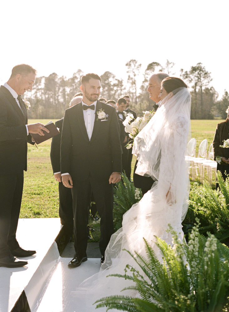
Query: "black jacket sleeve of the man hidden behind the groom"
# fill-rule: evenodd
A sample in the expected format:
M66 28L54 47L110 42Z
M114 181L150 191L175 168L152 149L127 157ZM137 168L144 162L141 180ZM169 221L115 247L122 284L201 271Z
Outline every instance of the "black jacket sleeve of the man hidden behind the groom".
M60 134L55 135L52 138L52 143L51 143L50 158L51 158L53 173L61 171L60 150L61 150L61 133L62 133L63 121L64 121L64 117L55 122L55 126L59 128Z

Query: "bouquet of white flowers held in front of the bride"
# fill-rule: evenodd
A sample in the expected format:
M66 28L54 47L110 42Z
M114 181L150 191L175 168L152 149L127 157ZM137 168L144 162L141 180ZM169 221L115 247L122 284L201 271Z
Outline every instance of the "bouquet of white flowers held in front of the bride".
M155 112L152 111L145 111L143 112L143 117L137 117L134 119L133 114L127 114L126 119L123 121L123 124L125 126L125 132L129 133L129 137L134 140L137 134L148 124L149 120L153 117ZM130 149L133 145L127 144L125 147L127 149Z

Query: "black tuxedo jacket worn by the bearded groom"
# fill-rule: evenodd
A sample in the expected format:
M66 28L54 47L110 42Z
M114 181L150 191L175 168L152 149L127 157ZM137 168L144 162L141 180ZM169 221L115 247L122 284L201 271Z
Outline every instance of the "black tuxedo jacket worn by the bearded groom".
M96 120L100 109L108 114L107 120ZM97 180L109 179L112 172L122 172L119 124L114 107L97 101L90 140L82 102L67 109L61 135L61 173L85 181L89 174Z

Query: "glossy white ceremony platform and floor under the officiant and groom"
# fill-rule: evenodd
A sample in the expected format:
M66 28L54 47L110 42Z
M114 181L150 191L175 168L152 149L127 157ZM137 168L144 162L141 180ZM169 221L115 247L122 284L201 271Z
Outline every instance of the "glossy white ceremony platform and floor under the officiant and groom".
M0 267L0 312L11 312L24 291L31 312L87 312L71 295L87 277L100 270L100 259L89 258L69 268L71 258L61 258L55 242L61 230L59 218L19 219L17 240L37 253L21 268ZM28 310L29 311L29 310ZM96 310L98 311L98 309Z

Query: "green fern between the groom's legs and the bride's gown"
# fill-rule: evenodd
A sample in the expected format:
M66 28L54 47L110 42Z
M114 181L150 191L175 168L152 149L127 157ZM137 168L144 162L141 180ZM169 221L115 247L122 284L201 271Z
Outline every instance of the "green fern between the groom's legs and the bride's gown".
M114 187L114 203L116 205L114 205L113 218L116 230L122 227L124 213L142 198L141 190L135 188L124 173L121 176L122 180Z

